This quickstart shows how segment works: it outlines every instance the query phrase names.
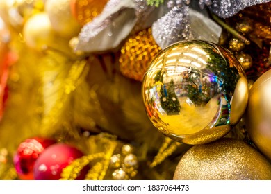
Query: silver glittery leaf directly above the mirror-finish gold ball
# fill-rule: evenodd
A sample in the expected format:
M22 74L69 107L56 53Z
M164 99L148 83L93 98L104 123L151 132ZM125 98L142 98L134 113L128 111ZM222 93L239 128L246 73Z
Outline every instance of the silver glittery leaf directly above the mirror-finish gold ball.
M172 5L171 10L152 25L152 35L161 48L183 39L218 42L222 28L204 15L206 10L194 10L185 2Z

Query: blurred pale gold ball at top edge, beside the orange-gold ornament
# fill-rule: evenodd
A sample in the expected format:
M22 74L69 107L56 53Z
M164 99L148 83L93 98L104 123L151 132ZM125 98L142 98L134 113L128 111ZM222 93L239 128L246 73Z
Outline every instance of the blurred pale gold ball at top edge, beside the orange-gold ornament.
M47 0L45 10L52 28L62 37L71 38L79 34L80 24L72 16L71 0Z

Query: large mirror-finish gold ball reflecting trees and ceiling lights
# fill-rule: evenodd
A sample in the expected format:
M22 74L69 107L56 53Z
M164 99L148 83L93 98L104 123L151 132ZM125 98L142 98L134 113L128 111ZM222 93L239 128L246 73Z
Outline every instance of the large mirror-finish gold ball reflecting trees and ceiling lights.
M195 145L226 135L247 107L242 66L227 50L201 40L158 53L142 80L150 121L165 136Z

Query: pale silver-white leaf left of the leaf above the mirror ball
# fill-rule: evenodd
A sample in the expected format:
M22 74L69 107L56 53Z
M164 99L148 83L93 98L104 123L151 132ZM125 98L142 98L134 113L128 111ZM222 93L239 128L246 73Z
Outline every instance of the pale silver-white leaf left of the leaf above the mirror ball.
M106 51L116 48L136 24L132 0L111 0L100 15L83 26L76 50Z

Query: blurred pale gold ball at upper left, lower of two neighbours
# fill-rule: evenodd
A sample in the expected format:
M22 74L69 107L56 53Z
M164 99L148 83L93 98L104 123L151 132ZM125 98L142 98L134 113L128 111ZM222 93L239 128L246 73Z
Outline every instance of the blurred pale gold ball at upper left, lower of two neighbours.
M26 45L31 48L42 50L51 44L54 41L54 30L48 15L40 13L29 18L24 25L23 35Z

